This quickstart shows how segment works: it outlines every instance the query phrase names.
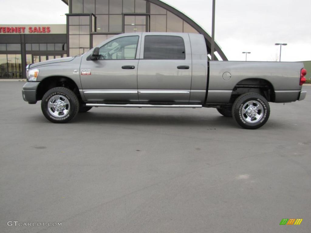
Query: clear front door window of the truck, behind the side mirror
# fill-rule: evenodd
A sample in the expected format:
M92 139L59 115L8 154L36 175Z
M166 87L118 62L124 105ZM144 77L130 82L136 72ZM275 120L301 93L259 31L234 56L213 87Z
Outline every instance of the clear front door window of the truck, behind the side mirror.
M110 41L99 50L100 60L135 59L139 36L126 36Z

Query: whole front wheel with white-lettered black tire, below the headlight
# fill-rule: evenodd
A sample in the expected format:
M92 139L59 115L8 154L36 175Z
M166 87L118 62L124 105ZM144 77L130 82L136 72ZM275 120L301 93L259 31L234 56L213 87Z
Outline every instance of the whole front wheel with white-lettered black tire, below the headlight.
M56 103L57 100L61 101L60 104ZM52 105L57 106L54 108L50 108L49 106ZM58 112L56 110L57 107L64 107L64 111ZM68 121L71 121L77 116L77 113L79 111L79 100L72 90L65 87L55 87L48 90L44 94L41 101L41 110L43 112L43 115L49 121L53 123L67 123ZM54 110L55 112L53 112ZM58 116L53 115L53 113Z

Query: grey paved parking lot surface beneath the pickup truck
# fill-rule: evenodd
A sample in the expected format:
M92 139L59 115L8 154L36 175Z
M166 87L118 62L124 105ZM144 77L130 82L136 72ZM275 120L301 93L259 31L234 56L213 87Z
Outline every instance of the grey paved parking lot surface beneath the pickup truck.
M245 130L207 108L93 108L53 124L24 83L0 82L0 232L310 232L311 86Z

